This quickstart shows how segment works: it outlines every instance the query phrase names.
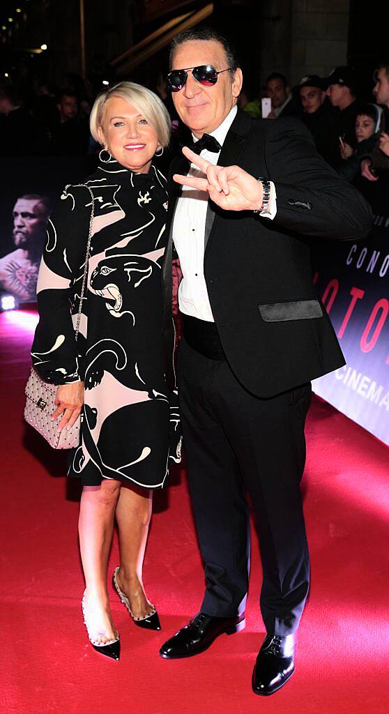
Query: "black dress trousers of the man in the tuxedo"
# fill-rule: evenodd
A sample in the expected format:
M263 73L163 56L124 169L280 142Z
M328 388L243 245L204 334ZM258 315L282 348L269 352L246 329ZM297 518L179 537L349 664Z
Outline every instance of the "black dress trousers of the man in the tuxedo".
M310 384L273 398L258 398L241 386L225 360L204 356L183 338L178 349L178 394L188 482L205 565L201 611L235 617L245 608L248 491L261 545L261 613L266 631L293 633L309 589L300 480Z

